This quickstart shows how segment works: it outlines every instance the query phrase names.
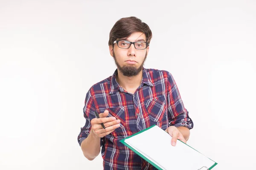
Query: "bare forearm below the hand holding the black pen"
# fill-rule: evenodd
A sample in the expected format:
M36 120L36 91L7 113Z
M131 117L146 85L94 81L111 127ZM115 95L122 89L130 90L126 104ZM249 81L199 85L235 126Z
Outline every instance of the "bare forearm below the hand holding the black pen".
M100 138L91 131L88 137L81 143L81 149L84 156L92 161L100 153Z

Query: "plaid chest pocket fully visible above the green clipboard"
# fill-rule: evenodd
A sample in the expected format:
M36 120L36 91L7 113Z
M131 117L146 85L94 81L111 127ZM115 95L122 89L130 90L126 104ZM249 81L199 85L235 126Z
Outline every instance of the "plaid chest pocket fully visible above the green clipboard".
M145 102L145 106L148 110L149 118L153 125L158 125L157 122L162 122L163 118L166 118L166 99L165 96L157 96L152 100Z

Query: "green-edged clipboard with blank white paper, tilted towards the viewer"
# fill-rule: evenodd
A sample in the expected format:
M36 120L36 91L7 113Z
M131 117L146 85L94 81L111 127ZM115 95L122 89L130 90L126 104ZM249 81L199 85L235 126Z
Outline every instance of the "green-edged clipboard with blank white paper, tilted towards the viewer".
M211 170L218 164L180 140L173 147L171 139L169 133L153 125L120 142L158 170Z

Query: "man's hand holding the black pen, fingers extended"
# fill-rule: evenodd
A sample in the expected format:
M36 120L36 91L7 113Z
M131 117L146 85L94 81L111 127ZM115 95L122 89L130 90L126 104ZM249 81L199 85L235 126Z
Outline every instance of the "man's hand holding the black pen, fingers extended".
M91 120L92 132L94 135L102 138L109 133L113 132L116 128L120 127L120 120L115 117L107 117L108 111L105 110L104 113L100 113L100 118L94 118ZM105 129L102 127L101 123L105 125Z

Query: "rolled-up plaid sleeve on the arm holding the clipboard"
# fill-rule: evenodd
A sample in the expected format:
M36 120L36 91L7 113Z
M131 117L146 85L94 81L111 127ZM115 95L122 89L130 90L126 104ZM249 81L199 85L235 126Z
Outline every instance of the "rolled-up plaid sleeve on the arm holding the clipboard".
M188 129L192 129L194 124L189 117L189 112L183 105L176 82L170 73L168 75L167 102L169 125L175 127L184 126Z

